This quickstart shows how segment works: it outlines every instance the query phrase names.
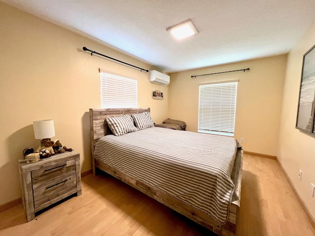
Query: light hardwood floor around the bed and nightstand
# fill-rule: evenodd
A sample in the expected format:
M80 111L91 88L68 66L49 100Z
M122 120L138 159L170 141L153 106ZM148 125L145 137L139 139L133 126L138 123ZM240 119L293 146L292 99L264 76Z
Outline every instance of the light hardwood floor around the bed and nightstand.
M238 236L315 236L276 160L244 155ZM213 235L107 176L82 178L82 195L27 223L22 205L0 212L0 236Z

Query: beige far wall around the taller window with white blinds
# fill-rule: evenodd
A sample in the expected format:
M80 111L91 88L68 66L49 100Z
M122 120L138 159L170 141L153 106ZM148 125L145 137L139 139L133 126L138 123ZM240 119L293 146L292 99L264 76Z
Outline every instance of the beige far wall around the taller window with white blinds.
M191 78L250 67L249 71ZM238 80L235 135L247 151L276 155L286 55L195 69L171 74L169 118L184 120L187 130L198 129L199 85Z

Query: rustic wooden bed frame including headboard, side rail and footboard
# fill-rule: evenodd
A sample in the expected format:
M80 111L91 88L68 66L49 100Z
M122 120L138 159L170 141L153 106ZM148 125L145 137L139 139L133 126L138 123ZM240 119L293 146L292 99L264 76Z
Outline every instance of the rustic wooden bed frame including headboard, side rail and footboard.
M236 153L235 164L232 172L232 180L235 184L235 191L233 194L232 204L229 207L227 222L223 225L218 224L208 214L195 209L171 196L168 196L158 190L152 189L146 184L127 176L121 171L108 166L94 159L94 146L98 139L101 137L112 134L109 129L106 118L119 117L125 114L131 115L135 113L142 113L148 111L150 108L127 108L127 109L90 109L90 125L91 125L91 146L92 146L92 168L93 175L95 175L95 168L100 169L111 176L114 176L135 189L143 192L144 194L154 198L158 202L167 207L185 215L189 219L197 222L198 224L206 227L207 229L215 232L219 236L235 236L237 214L240 206L241 197L241 182L242 182L242 163L243 163L243 150L239 149ZM184 131L179 131L184 132Z

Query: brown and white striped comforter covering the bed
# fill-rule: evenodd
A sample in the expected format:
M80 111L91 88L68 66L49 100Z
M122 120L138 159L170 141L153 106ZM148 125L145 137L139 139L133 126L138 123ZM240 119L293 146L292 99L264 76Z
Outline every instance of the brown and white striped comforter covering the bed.
M236 151L234 138L151 127L100 138L94 157L224 224Z

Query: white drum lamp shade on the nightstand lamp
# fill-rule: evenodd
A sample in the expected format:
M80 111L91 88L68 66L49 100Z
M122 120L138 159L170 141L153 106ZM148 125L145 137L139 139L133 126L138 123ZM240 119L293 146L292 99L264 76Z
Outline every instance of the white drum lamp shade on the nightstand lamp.
M35 139L46 139L55 136L53 119L33 121Z

